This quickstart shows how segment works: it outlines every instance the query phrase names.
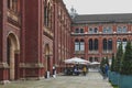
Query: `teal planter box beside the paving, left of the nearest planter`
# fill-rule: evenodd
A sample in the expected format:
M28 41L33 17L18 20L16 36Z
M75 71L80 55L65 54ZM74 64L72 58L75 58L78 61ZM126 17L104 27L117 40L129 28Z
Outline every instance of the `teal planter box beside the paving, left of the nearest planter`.
M111 74L111 84L114 85L114 86L119 86L119 79L120 79L120 74L113 72Z

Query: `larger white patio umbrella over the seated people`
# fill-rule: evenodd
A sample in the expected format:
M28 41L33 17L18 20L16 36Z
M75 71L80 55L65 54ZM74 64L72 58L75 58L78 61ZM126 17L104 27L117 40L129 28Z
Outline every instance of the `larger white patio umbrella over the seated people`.
M78 58L78 57L73 57L73 58L69 58L69 59L65 59L64 62L66 64L89 64L88 61L81 59L81 58Z

